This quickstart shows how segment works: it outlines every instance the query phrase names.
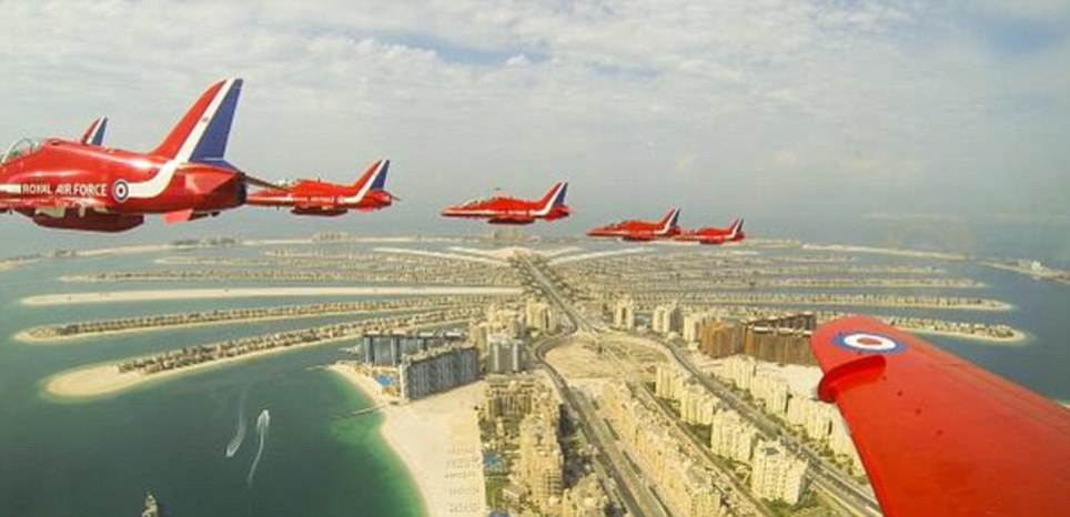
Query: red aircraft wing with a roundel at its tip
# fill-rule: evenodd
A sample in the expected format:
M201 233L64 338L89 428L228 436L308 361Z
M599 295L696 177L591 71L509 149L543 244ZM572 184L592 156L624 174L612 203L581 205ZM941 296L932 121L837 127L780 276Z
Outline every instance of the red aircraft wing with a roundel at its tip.
M1070 410L869 317L810 344L887 516L1070 507Z

